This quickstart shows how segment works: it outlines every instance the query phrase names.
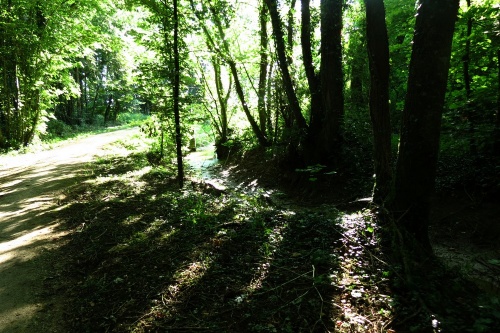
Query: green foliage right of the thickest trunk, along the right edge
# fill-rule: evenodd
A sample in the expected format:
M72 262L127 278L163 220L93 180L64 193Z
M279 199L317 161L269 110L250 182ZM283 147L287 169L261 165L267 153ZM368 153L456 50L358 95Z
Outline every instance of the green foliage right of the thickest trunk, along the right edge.
M500 47L498 7L493 1L463 6L456 24L448 82L448 107L443 115L445 147L458 142L457 155L488 154L492 150L498 100ZM468 24L471 24L468 36ZM467 65L469 90L465 76Z

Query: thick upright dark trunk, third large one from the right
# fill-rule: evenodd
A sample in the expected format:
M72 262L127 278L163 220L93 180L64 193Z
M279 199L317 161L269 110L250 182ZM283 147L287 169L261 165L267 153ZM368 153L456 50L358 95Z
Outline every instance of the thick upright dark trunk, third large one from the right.
M321 96L323 121L320 149L327 161L339 152L344 118L342 71L343 0L321 0Z

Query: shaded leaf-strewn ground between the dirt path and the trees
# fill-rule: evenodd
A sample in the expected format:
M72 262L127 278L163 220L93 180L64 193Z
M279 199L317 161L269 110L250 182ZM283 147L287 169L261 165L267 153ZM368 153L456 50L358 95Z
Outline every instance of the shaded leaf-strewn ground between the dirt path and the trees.
M66 331L488 332L496 325L495 300L478 315L476 300L463 300L474 293L443 270L424 272L420 289L405 285L369 210L208 191L194 178L179 190L175 170L151 167L146 153L144 146L90 164L87 181L62 202L70 232L53 253L58 278L46 283L64 292Z

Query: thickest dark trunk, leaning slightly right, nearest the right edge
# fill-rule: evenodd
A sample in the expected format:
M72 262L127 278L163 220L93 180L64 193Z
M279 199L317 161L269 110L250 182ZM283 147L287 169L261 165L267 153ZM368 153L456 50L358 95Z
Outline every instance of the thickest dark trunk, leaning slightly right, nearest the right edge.
M431 253L428 237L439 135L459 0L418 3L391 209L409 241Z

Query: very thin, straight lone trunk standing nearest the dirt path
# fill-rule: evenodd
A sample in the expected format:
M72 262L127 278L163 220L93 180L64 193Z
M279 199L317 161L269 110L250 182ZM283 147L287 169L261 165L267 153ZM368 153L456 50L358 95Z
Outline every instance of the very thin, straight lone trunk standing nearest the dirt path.
M184 187L184 165L182 162L181 117L179 109L180 96L180 55L179 55L179 8L178 0L174 1L174 118L175 118L175 144L177 147L177 178L179 187Z

